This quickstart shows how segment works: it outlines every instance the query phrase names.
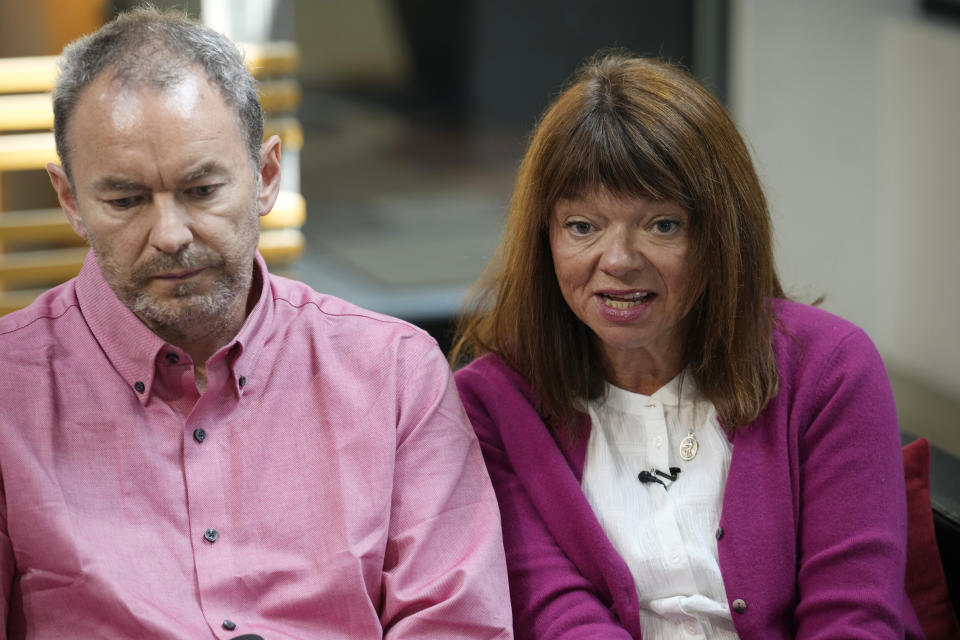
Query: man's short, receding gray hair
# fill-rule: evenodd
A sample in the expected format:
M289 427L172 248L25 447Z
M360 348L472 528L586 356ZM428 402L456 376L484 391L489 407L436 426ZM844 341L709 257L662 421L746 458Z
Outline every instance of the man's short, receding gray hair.
M226 103L237 110L244 142L258 166L263 110L257 82L236 45L178 11L145 7L120 14L63 50L53 94L53 132L67 176L67 126L84 90L97 76L109 71L124 85L162 90L180 82L191 68L203 70Z

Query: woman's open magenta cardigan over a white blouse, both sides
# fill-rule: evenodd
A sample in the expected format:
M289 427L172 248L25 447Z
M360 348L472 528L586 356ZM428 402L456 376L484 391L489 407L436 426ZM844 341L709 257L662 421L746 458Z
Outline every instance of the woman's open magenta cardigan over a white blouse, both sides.
M737 633L922 638L904 595L903 463L880 356L836 316L774 305L780 390L729 434L717 531ZM586 441L559 446L496 356L456 381L500 503L516 637L640 638L633 579L580 488Z

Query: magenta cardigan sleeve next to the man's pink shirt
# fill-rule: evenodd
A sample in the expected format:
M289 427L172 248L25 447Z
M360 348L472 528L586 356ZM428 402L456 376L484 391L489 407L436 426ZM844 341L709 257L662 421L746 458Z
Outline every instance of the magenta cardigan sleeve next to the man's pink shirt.
M459 371L456 379L500 504L516 637L631 638L609 603L601 600L595 585L561 548L535 504L531 487L514 467L514 458L525 464L538 461L508 450L504 444L502 434L506 430L525 432L534 428L546 432L546 426L528 403L518 401L520 394L506 388L502 379L485 378L473 369ZM553 451L544 454L540 460L545 467L548 460L562 458L555 445ZM543 469L547 477L555 470ZM536 474L537 469L526 471ZM567 473L575 482L573 473L569 469ZM532 490L538 492L537 488ZM562 501L558 501L556 509L552 515L564 517Z

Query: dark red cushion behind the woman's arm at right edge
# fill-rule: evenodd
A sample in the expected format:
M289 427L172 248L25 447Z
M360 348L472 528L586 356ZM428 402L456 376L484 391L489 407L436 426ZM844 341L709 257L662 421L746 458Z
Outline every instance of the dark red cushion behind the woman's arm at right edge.
M933 528L930 442L926 438L903 448L903 470L907 482L907 595L927 640L960 638Z

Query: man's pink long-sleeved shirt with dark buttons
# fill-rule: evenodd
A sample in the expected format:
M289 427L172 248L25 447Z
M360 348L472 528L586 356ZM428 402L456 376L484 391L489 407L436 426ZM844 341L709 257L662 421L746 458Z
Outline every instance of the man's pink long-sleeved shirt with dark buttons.
M257 265L202 396L92 255L0 318L0 637L511 637L435 343Z

